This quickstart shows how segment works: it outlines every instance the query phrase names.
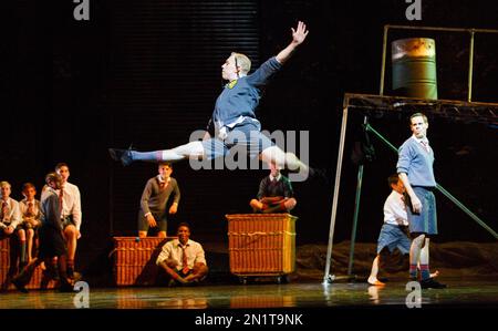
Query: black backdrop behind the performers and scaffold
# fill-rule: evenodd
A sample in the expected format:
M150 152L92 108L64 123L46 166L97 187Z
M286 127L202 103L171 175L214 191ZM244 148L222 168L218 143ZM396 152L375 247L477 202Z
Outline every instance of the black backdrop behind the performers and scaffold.
M405 19L402 0L383 1L97 1L90 21L73 19L73 1L9 1L2 29L0 178L21 198L24 182L39 187L58 162L71 168L82 192L80 263L107 249L111 236L134 236L143 186L153 164L123 168L107 147L160 149L188 142L204 128L221 89L220 65L231 51L253 65L290 41L290 27L308 23L310 35L268 87L258 110L263 128L309 131L310 163L328 182L295 183L298 244L326 242L332 206L342 97L378 93L384 24L498 28L494 1L422 0L423 20ZM393 38L413 34L395 33ZM464 100L468 35L435 37L439 99ZM391 39L390 39L391 41ZM498 37L476 39L474 100L498 102ZM387 62L388 63L388 62ZM387 77L387 86L391 81ZM387 89L388 92L388 89ZM357 167L350 154L360 114L349 125L335 240L350 237ZM380 115L372 125L401 145L406 118ZM497 229L496 125L435 118L429 138L438 182ZM375 241L385 178L396 156L375 142L365 167L359 240ZM169 231L189 221L198 240L225 242L225 215L248 213L266 170L199 170L174 166L183 198ZM438 195L437 240L492 240Z

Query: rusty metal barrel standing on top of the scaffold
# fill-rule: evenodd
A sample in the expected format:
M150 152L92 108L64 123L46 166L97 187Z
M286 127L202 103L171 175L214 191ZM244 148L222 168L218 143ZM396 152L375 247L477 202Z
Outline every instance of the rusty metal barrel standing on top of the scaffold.
M436 42L429 38L393 41L393 92L398 96L437 99Z

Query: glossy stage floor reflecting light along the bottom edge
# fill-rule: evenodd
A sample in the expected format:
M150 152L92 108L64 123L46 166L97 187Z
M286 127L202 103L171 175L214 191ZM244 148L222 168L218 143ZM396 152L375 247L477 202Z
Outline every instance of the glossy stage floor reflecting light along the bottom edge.
M443 281L443 280L442 280ZM445 281L447 289L422 290L422 307L497 308L498 282ZM290 308L406 308L411 291L405 282L385 287L334 282L253 283L189 288L90 288L91 309L290 309ZM0 293L0 309L72 309L75 293L53 290ZM81 297L80 302L83 302ZM412 302L414 302L412 300ZM6 312L6 311L3 311Z

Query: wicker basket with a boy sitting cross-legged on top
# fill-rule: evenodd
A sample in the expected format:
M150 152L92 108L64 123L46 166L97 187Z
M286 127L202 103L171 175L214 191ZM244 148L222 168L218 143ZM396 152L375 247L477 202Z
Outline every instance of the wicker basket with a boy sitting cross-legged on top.
M230 272L282 276L295 270L295 220L290 214L235 214L228 219Z

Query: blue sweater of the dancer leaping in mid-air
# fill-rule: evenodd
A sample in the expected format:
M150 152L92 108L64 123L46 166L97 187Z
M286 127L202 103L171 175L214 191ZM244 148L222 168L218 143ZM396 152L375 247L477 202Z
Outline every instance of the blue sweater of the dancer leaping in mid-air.
M222 127L235 123L240 116L256 118L255 110L259 104L262 89L281 68L282 64L273 56L252 74L238 79L235 85L234 82L225 85L216 100L212 124Z

